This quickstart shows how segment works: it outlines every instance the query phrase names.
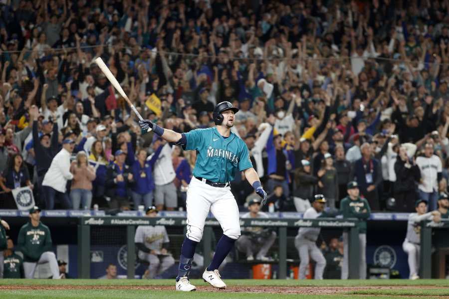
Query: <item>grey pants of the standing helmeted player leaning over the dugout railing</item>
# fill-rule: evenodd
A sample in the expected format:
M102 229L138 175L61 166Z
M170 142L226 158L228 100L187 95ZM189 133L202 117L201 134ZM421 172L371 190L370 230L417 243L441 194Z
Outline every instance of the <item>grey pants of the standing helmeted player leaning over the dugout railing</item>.
M295 247L299 253L299 279L306 278L307 267L309 266L310 258L315 261L315 279L323 279L324 268L326 268L326 259L321 250L316 246L316 243L302 236L296 236Z

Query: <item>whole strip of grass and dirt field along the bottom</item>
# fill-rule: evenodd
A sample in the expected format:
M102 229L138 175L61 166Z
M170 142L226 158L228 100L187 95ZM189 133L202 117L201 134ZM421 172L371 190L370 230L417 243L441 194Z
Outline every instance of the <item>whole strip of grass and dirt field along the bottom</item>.
M173 280L0 280L6 299L449 299L447 280L226 280L217 290L192 280L197 292L176 292Z

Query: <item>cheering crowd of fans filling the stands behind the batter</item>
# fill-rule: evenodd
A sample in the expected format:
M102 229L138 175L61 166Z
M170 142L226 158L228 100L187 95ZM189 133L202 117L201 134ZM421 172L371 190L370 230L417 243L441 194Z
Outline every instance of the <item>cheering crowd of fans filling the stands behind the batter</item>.
M356 180L373 211L437 208L448 192L449 1L2 0L0 208L30 186L41 208L183 207L196 153L145 119L233 132L276 211ZM253 196L243 175L231 188ZM393 199L394 200L393 200ZM267 206L263 209L267 209ZM246 208L242 209L246 210Z

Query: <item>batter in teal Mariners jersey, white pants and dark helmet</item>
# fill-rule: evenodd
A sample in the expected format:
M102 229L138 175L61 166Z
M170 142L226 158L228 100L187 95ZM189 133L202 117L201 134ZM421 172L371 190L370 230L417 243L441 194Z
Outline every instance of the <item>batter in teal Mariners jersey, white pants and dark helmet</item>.
M216 127L183 134L162 129L150 120L139 122L142 129L151 128L162 139L186 150L197 151L194 176L187 191L187 233L181 247L179 273L176 278L178 291L196 290L196 287L190 284L189 273L195 247L203 237L209 211L220 222L223 236L217 244L211 264L203 273L203 279L215 288L226 288L218 268L240 236L238 207L229 187L229 181L234 178L236 169L244 173L246 180L262 197L262 205L266 201L266 192L252 167L248 148L240 138L230 132L234 125L234 114L237 112L238 109L231 103L221 102L215 106L213 112Z

